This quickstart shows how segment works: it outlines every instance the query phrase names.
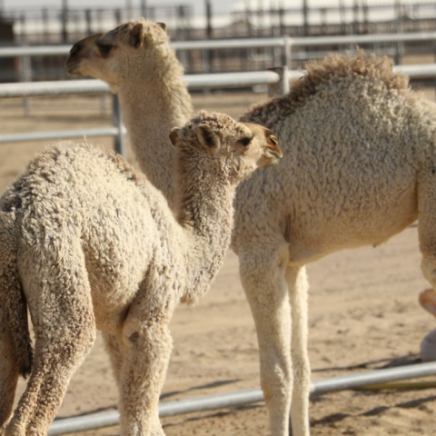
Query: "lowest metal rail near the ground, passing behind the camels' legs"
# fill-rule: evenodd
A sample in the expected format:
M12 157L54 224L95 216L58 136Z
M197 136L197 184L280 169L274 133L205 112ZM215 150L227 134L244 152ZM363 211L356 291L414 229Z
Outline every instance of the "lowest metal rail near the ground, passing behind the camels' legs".
M332 391L344 391L371 386L375 383L426 377L429 375L436 375L436 362L420 363L416 365L401 366L372 372L362 372L313 381L311 385L311 393L321 394ZM163 417L191 413L193 411L208 411L259 401L263 401L263 392L260 389L209 395L191 400L160 403L159 415ZM119 418L120 415L118 411L107 411L104 413L94 413L74 418L65 418L63 420L55 420L52 423L48 434L49 436L54 436L76 431L87 431L101 427L109 427L111 425L116 425L119 422Z

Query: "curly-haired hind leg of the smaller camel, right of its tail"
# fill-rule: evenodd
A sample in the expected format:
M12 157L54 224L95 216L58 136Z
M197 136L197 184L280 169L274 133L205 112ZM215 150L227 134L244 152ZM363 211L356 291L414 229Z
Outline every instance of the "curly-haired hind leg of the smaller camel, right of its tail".
M94 343L94 312L83 254L69 248L62 251L62 259L25 256L28 262L21 271L34 324L35 359L6 436L46 434L75 369Z

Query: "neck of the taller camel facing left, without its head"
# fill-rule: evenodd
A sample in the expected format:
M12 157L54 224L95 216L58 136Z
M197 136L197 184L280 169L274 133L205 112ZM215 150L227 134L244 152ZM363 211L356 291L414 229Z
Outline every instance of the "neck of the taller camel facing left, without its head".
M178 62L178 61L176 61ZM167 68L159 77L138 77L118 92L124 125L136 161L154 186L174 204L174 149L168 135L192 116L182 70Z

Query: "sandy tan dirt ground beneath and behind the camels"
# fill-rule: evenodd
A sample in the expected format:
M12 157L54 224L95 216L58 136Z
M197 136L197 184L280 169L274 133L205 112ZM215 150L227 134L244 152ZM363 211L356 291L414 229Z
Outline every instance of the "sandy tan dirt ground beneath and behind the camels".
M431 99L433 94L427 93ZM195 96L194 104L236 115L263 98L263 94L207 94ZM0 119L4 134L110 124L109 111L104 112L104 102L97 97L33 100L27 117L21 100L0 101ZM92 142L108 149L112 144L107 138ZM46 144L0 144L0 193ZM130 152L128 159L133 161ZM258 388L258 347L237 263L237 257L228 253L203 301L176 310L171 325L173 356L162 401ZM377 248L334 253L310 264L308 272L312 380L419 360L421 339L436 328L436 320L418 304L419 292L428 285L421 277L416 228ZM20 382L19 390L23 387ZM74 374L58 416L111 411L116 399L108 358L98 337ZM312 435L430 435L435 412L434 389L315 395ZM268 434L263 402L162 421L168 436ZM119 431L115 426L79 434L108 436Z

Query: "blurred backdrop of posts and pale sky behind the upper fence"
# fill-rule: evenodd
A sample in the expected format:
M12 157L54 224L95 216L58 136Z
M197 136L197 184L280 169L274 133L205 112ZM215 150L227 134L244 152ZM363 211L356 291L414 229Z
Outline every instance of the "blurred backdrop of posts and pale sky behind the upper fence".
M436 3L421 0L0 0L0 46L71 45L86 35L144 16L164 22L173 41L268 38L288 35L375 35L436 31ZM355 45L354 45L355 46ZM423 54L433 62L435 42L361 45L378 54ZM346 49L316 45L292 49L291 68L312 57ZM401 50L401 52L400 52ZM273 49L214 50L204 67L203 53L183 55L187 74L257 71L272 66ZM428 57L430 55L430 57ZM32 80L66 78L64 56L32 57ZM20 80L17 59L0 59L0 81Z

